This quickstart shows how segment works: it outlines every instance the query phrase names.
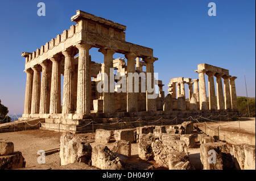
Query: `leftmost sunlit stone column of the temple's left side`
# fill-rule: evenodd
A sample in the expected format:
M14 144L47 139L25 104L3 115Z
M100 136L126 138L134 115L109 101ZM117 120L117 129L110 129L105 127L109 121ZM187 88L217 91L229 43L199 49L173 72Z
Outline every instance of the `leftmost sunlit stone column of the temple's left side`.
M24 114L30 114L31 100L32 100L33 71L32 69L27 69L25 70L25 72L27 73L27 81L26 81L26 94L25 94L25 102L24 102Z

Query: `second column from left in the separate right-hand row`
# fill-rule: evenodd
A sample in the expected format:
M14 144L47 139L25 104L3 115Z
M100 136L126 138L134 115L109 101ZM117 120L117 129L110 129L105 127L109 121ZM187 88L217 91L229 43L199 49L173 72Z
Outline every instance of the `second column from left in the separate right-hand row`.
M215 95L215 87L214 87L214 79L213 75L214 72L207 71L208 75L208 92L209 92L209 109L210 110L217 110L217 100Z

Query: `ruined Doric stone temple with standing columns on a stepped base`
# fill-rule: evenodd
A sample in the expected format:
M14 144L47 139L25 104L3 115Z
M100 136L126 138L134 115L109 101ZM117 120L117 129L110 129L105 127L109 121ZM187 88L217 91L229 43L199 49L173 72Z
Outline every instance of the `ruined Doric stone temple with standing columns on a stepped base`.
M94 129L104 128L105 124L120 119L126 121L125 127L136 127L129 125L129 121L186 117L202 111L238 113L236 77L231 77L228 70L200 64L196 70L199 79L171 78L169 94L165 96L162 81L154 79L154 62L158 58L154 57L153 49L127 42L126 26L80 10L71 20L77 24L40 49L32 53L22 52L26 58L24 71L27 81L24 113L20 120L44 119L44 129L77 133L93 129L91 125L86 126L90 121L96 123ZM93 61L91 48L98 48L104 54L101 64ZM114 53L124 54L127 61L124 58L114 59ZM143 66L146 66L146 72ZM151 73L146 78L154 82L151 89L155 89L155 85L159 87L157 98L148 98L153 94L148 90L118 92L121 86L116 84L116 80L113 92L98 92L97 86L102 79L108 79L110 87L112 69L115 75L123 73L126 77L129 73ZM100 73L107 78L99 77ZM208 75L209 100L205 74ZM64 76L62 101L61 75ZM217 78L217 99L213 76ZM224 94L221 78L224 78ZM138 80L140 86L142 79ZM135 79L127 81L127 87L135 83ZM189 86L188 100L185 99L184 83Z

